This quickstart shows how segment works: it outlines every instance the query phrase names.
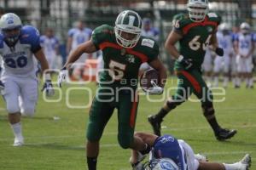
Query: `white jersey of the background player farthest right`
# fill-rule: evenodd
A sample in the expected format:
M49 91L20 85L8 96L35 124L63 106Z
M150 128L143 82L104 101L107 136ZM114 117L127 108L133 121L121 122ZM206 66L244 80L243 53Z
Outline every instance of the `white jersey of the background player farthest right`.
M253 38L253 34L242 34L238 33L235 37L235 41L238 42L238 51L239 54L246 56L250 53L253 48L253 42L255 42Z

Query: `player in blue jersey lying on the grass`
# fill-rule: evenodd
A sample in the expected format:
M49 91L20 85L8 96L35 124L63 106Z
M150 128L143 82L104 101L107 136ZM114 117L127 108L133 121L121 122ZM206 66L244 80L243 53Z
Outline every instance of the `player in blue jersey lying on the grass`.
M146 155L133 150L130 158L134 170L247 170L251 156L246 154L241 161L232 164L207 161L206 156L194 154L194 150L182 139L166 134L156 136L150 133L135 133L152 147L149 162L143 164Z

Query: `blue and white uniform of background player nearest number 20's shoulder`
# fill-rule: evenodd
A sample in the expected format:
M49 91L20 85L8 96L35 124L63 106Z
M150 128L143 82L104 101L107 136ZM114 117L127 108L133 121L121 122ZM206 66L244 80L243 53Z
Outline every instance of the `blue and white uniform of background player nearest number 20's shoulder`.
M41 47L44 49L45 57L49 63L49 69L56 69L57 54L56 48L59 47L59 40L57 37L40 37Z

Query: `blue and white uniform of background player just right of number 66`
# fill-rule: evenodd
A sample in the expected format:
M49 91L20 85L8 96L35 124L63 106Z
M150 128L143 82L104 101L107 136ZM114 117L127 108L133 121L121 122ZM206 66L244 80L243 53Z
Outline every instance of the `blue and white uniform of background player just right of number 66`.
M236 59L233 56L233 41L232 33L224 34L222 31L218 31L217 34L218 47L224 49L224 56L216 56L214 59L214 72L224 71L228 73L230 69L234 72L236 70Z

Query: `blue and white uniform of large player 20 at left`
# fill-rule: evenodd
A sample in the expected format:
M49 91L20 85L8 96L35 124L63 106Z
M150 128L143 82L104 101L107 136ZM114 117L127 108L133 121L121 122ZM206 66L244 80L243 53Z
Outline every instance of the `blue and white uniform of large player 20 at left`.
M34 114L38 100L38 67L33 54L40 49L39 32L32 26L20 29L20 37L11 48L0 34L1 81L5 85L2 93L9 113Z

